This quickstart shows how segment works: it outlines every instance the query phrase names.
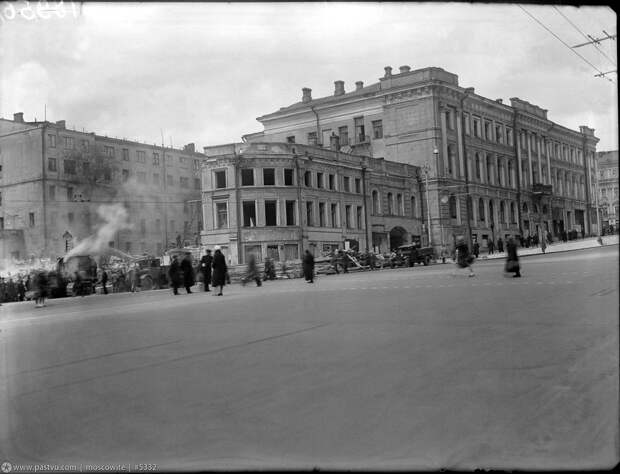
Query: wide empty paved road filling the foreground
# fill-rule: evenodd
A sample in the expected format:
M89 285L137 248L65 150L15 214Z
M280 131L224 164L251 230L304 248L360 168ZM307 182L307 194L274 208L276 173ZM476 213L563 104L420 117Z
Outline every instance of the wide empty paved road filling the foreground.
M0 462L611 467L618 247L522 263L4 305Z

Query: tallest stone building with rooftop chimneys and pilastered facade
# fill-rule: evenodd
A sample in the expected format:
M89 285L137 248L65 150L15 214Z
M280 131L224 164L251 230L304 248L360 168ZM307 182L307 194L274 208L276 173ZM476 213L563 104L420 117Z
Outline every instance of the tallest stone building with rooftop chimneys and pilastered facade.
M482 97L441 68L386 67L374 84L347 92L336 81L322 98L304 88L300 102L257 120L264 130L245 141L329 147L336 135L342 152L427 170L436 247L469 232L483 248L511 235L597 232L594 130L570 130L518 98Z

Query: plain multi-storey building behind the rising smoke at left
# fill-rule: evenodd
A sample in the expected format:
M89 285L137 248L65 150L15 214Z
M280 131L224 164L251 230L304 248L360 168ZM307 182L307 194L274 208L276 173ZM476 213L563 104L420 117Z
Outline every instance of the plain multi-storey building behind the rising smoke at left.
M200 165L183 150L70 130L65 121L0 119L2 258L56 257L93 234L102 204L119 203L132 227L108 242L161 254L199 240Z

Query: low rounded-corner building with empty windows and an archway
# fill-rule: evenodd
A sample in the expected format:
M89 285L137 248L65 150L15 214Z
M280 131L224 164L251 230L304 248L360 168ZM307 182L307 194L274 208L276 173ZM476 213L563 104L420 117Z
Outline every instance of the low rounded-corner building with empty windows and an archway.
M204 152L202 243L221 246L233 264L296 260L306 249L386 252L420 239L414 166L291 143Z

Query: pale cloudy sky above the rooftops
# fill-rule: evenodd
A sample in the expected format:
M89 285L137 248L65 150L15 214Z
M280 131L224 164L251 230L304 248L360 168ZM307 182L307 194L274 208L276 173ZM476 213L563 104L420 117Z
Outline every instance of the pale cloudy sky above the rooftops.
M34 5L35 3L32 2ZM437 66L463 87L549 110L618 149L616 34L608 7L469 3L64 3L64 18L0 3L0 116L201 149L261 130L256 117ZM57 5L50 2L50 7ZM49 16L49 18L42 18ZM555 35L555 36L554 36ZM579 53L580 58L575 53Z

